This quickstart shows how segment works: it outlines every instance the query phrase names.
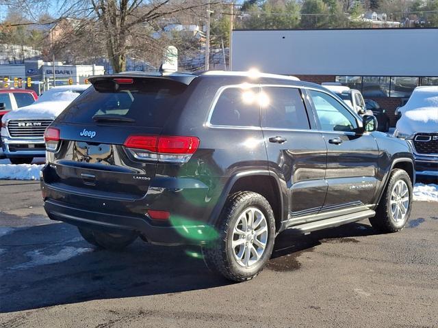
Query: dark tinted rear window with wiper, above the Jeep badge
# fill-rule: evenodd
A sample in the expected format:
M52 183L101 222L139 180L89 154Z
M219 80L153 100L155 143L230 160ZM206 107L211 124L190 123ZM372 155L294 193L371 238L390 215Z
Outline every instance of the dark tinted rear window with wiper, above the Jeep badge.
M186 88L182 83L158 79L134 79L132 84L118 85L117 91L90 87L67 107L60 120L90 124L94 115L111 115L120 117L120 122L105 124L162 127Z

